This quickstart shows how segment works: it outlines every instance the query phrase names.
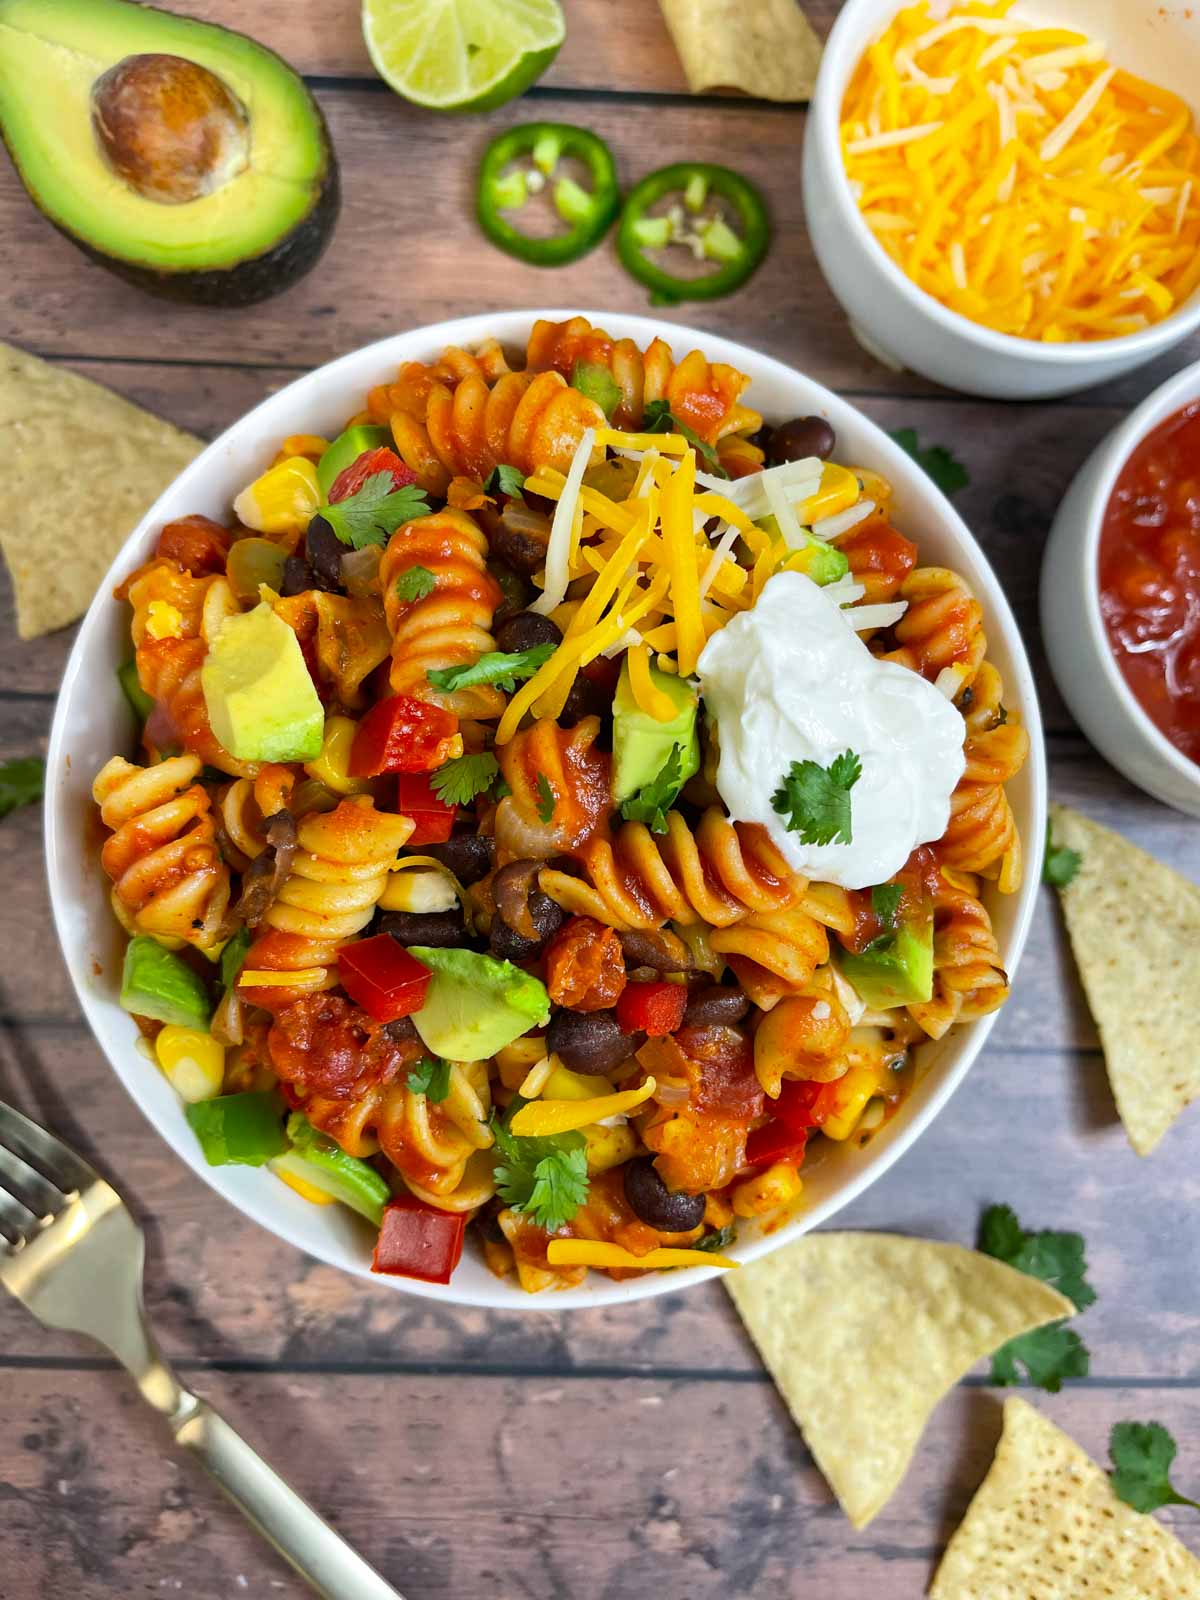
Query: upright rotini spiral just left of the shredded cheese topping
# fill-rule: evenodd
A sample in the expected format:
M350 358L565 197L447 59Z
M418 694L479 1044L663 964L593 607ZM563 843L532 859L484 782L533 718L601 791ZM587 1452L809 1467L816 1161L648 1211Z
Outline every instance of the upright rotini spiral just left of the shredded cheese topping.
M490 685L435 690L429 672L464 667L494 650L491 618L501 602L486 570L488 541L462 510L418 517L392 534L379 563L384 611L392 635L390 683L395 694L434 701L459 717L499 717L504 694ZM434 574L421 600L402 600L397 579L410 566Z

